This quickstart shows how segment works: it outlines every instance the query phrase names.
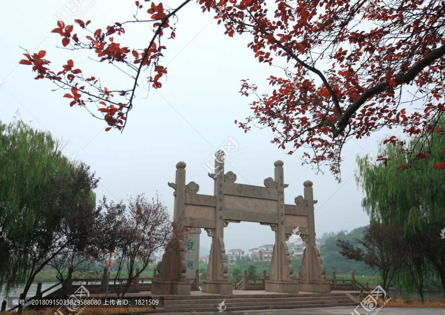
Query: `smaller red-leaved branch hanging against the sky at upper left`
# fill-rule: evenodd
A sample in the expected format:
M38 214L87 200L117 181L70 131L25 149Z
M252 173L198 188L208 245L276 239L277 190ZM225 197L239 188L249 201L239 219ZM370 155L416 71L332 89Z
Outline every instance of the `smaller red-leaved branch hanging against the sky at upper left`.
M161 38L164 36L166 29L171 30L170 39L175 38L175 27L170 26L169 23L190 0L184 1L175 9L164 9L162 3L148 2L150 2L147 9L147 13L150 15L148 20L137 19L138 11L143 8L139 1L135 1L137 11L134 20L115 23L103 30L90 31L87 28L90 21L85 23L82 20L75 20L82 31L89 34L83 40L79 39L77 33L72 34L73 25L65 26L62 21L58 21L58 27L52 30L52 33L57 33L62 37L62 45L66 49L83 49L89 53L92 51L94 60L98 62L108 61L108 64L118 67L124 74L130 76L133 83L127 89L110 90L106 86L102 86L98 77L84 77L84 71L74 67L72 59L69 59L67 64L63 65L62 70L55 73L47 68L50 61L44 59L45 50L41 50L32 56L27 52L24 54L27 59L21 60L20 63L33 66L33 71L38 73L35 79L49 79L57 85L56 89L66 90L68 93L65 93L63 97L71 100L70 106L83 106L92 116L104 119L108 124L106 131L113 127L122 130L125 127L128 113L133 108L135 89L138 86L138 80L142 72L144 70L150 72L145 80L153 88L162 86L160 79L167 74L167 68L164 68L160 63L160 58L163 57L162 50L166 48L161 45ZM116 36L125 34L125 29L122 26L127 23L149 23L151 25L154 34L146 48L130 49L129 47L121 47L120 43L115 41ZM155 73L154 76L152 76L153 72ZM93 103L101 115L87 106L88 103Z

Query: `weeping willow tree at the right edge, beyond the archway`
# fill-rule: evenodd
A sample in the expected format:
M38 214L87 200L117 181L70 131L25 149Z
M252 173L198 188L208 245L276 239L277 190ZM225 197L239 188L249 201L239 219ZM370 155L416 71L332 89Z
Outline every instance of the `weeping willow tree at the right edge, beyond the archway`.
M392 142L383 141L379 146L379 155L394 158L375 164L367 157L357 157L356 182L365 194L362 207L370 216L371 225L393 224L403 228L408 238L419 239L425 239L429 230L435 230L437 241L428 246L422 242L424 245L415 246L413 250L422 251L422 257L428 258L425 263L432 263L436 267L445 290L445 255L436 254L442 252L445 246L445 240L440 236L441 229L438 228L445 224L445 173L443 169L434 167L434 160L445 160L444 128L445 119L442 118L435 132L410 138L406 142L407 155L400 154ZM409 150L427 146L429 151L413 154L425 154L431 158L419 157L415 163L409 161ZM413 279L412 268L418 266L408 264L407 267L405 272L410 275L405 279ZM421 272L419 268L417 272Z

